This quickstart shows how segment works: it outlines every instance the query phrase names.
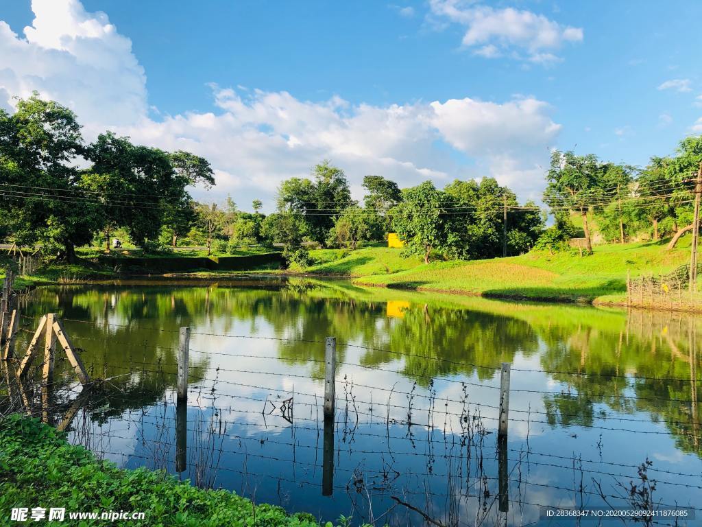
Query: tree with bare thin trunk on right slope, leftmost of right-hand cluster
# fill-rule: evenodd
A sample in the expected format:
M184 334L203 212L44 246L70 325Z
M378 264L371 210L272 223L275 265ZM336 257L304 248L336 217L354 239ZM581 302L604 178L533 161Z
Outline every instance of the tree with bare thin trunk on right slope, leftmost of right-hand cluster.
M602 193L602 167L594 154L575 155L574 152L554 150L546 176L548 186L544 201L552 209L577 211L583 219L585 248L592 252L588 211Z

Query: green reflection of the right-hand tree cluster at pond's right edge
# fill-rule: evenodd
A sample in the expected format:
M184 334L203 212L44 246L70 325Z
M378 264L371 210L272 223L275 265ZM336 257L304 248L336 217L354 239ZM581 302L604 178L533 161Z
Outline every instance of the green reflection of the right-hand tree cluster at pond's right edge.
M607 330L592 322L540 331L547 344L544 370L587 374L552 374L577 395L547 396L548 422L588 424L595 405L603 404L618 412L647 412L654 422L665 421L678 448L702 454L700 329L694 316L632 311L621 327Z

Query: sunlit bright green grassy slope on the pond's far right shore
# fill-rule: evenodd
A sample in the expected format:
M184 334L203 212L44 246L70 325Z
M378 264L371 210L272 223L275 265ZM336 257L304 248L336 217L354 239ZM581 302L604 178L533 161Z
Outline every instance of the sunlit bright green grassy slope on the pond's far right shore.
M405 259L398 249L369 247L350 254L312 251L318 263L300 272L343 275L359 285L442 291L484 297L617 303L626 292L626 275L668 273L689 259L689 238L672 251L665 242L595 247L594 254L530 252L476 261Z

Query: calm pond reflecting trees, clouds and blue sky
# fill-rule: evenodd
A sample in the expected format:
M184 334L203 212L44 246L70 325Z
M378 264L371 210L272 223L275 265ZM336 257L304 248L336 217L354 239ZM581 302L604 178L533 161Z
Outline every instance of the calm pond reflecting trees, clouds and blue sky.
M121 467L353 525L527 525L542 506L647 506L631 490L651 480L654 508L702 503L702 334L690 315L283 278L42 287L21 309L20 353L41 315L58 313L91 379L107 379L76 403L58 354L48 418L72 416L70 441ZM180 327L191 330L187 408L176 405ZM502 363L510 420L498 448Z

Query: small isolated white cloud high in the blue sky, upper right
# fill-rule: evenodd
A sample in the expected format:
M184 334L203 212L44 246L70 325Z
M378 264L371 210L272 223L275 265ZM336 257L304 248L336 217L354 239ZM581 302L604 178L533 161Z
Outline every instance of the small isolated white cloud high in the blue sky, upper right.
M582 28L562 26L531 11L496 9L461 0L430 0L430 8L433 15L465 26L463 46L477 48L476 54L488 58L522 49L526 56L518 53L516 56L536 63L552 63L559 58L550 51L559 49L565 42L583 40ZM493 48L491 53L485 52Z

